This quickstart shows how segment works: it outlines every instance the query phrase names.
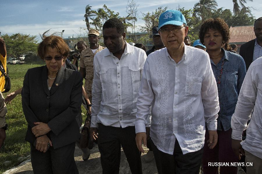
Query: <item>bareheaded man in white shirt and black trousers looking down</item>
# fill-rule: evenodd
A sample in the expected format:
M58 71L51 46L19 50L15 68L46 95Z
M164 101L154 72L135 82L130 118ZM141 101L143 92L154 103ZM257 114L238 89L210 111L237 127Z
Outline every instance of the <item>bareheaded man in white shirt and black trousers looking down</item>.
M98 132L103 174L119 173L121 146L131 172L142 174L134 125L146 53L125 42L117 18L105 22L103 37L107 48L94 57L91 133Z

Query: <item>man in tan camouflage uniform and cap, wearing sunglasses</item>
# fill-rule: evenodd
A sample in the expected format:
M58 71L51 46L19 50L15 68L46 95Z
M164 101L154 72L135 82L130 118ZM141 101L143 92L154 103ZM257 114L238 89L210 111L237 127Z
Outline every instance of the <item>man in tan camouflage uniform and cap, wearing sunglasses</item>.
M85 91L89 97L90 102L92 102L92 83L94 77L93 70L93 60L96 53L105 49L105 47L98 44L99 32L95 29L89 29L88 32L88 41L90 46L82 51L80 55L80 73L85 81ZM77 45L78 46L78 45ZM91 103L88 103L88 107L92 106Z

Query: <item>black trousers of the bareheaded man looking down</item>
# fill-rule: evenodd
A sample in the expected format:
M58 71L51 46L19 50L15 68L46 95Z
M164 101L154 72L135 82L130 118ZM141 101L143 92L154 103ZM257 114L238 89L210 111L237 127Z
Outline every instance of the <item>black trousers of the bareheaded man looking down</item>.
M134 126L116 128L98 123L98 148L103 174L118 174L121 146L132 174L142 174L141 153L136 145Z

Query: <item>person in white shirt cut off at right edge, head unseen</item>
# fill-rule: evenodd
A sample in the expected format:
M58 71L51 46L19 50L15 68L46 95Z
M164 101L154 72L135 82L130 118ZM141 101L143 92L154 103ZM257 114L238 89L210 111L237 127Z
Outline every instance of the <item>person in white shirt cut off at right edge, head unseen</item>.
M253 113L252 113L253 111ZM252 116L251 116L252 113ZM262 174L262 57L251 63L243 81L235 113L231 117L232 148L238 159L245 155L247 174ZM247 121L251 121L247 128ZM242 141L242 132L247 136ZM241 143L240 143L241 142ZM241 147L242 146L242 147ZM243 150L244 149L244 150ZM241 150L241 153L239 153Z

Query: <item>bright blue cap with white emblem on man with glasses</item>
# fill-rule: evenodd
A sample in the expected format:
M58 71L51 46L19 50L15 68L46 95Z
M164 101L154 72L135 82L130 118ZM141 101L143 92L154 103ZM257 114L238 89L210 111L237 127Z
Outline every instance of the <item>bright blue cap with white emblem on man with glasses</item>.
M184 15L178 10L167 10L159 17L158 31L164 25L181 26L183 23L187 24Z

